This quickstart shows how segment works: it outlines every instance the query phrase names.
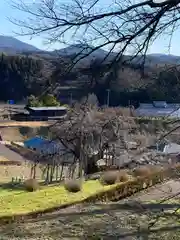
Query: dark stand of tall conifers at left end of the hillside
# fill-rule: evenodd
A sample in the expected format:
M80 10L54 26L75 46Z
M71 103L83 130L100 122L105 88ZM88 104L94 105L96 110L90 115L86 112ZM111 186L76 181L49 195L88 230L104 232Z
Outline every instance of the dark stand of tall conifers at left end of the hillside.
M39 94L46 81L45 72L45 62L42 60L2 54L0 56L0 100L20 101L30 94Z

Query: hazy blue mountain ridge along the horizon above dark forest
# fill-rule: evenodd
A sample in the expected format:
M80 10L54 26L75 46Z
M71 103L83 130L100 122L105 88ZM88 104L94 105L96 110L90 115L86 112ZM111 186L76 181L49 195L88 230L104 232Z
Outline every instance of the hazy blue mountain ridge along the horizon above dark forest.
M94 59L103 59L107 56L108 52L104 49L97 49L93 51L94 47L87 44L73 44L62 49L56 49L53 51L45 51L39 49L31 44L20 41L11 36L0 35L0 51L7 54L47 54L51 57L74 57L78 55L77 59L83 58L88 55L86 60L89 62ZM92 51L92 53L91 53ZM91 54L90 54L91 53ZM116 56L116 52L109 54L107 60L111 60ZM128 58L128 56L126 56ZM137 59L140 59L138 57ZM139 61L139 60L138 60ZM153 63L169 63L169 64L179 64L180 56L175 56L172 54L161 54L161 53L151 53L147 55L147 62Z

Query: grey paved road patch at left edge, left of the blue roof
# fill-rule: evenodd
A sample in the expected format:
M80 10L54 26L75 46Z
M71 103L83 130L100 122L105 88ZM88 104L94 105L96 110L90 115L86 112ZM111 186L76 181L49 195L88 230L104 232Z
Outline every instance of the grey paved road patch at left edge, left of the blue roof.
M0 155L9 159L10 161L25 161L25 159L21 155L10 150L3 144L0 144Z

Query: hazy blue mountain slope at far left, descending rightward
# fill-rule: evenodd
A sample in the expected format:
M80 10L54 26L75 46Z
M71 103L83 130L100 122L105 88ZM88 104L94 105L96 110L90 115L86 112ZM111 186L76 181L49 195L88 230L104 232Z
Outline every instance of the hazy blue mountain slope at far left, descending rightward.
M14 37L0 35L0 51L7 53L37 52L38 48Z

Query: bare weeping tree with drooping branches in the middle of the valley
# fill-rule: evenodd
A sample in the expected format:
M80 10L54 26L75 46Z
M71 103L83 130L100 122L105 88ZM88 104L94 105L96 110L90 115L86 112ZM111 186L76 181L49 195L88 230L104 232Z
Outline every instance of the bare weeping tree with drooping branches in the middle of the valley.
M114 144L121 143L126 149L124 132L128 134L133 124L132 118L128 121L116 109L102 110L86 103L75 106L51 131L66 152L71 153L71 162L79 163L79 176L82 176L83 172L85 175L96 172L97 161L103 159L106 151L113 155Z

